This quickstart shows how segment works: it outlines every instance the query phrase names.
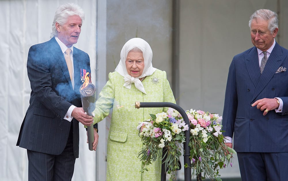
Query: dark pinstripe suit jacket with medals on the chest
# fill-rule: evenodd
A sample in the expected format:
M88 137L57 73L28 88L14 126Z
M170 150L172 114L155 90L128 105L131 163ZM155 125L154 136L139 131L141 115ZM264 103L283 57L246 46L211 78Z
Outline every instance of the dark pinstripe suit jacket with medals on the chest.
M20 147L59 155L64 150L73 124L73 151L79 155L79 122L64 120L73 104L82 107L80 69L90 71L87 53L73 48L74 90L60 46L53 37L29 49L27 72L31 84L30 105L22 122L17 144Z

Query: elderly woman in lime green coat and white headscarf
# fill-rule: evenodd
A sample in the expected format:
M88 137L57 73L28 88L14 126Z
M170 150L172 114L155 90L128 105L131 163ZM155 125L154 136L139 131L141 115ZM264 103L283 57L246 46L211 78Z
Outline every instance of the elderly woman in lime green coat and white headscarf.
M107 181L140 181L161 179L161 158L147 166L141 173L142 162L138 153L143 147L137 126L168 108L140 108L132 105L140 102L175 103L166 72L152 66L152 50L141 38L132 38L121 50L120 62L115 72L99 94L94 110L94 124L103 120L112 109L107 143ZM124 106L122 105L131 105Z

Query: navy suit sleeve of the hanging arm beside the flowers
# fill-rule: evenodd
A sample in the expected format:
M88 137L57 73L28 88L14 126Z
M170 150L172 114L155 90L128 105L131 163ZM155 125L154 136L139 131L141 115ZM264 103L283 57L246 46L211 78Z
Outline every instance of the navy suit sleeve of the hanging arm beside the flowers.
M222 130L225 131L223 132L223 135L230 136L231 138L233 137L234 122L238 104L234 59L229 67L222 120Z

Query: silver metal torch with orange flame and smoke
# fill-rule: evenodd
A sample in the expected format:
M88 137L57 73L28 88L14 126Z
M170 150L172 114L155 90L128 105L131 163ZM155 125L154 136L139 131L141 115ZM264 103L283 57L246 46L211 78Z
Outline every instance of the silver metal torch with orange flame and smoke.
M80 86L80 95L82 101L83 110L90 116L92 116L92 112L95 109L96 102L96 87L91 83L91 79L88 76L89 72L85 75L85 82ZM93 150L93 142L94 142L94 128L93 125L88 126L88 146L89 150Z

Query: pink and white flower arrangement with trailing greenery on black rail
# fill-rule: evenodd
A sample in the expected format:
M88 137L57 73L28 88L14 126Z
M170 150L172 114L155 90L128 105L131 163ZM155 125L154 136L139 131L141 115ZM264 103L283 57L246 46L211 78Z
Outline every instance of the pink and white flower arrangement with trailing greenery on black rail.
M190 126L190 159L193 169L192 175L203 173L202 179L207 176L211 179L221 180L219 169L230 163L232 166L232 153L234 149L224 144L221 130L222 116L215 113L193 109L186 111L190 125L186 125L183 117L175 109L169 108L167 112L150 114L151 118L139 123L137 129L142 138L143 149L139 158L143 163L141 169L147 171L146 165L156 160L165 149L164 159L166 171L171 174L170 180L176 180L176 170L179 169L182 143L185 142L184 131ZM184 165L184 167L187 167Z

